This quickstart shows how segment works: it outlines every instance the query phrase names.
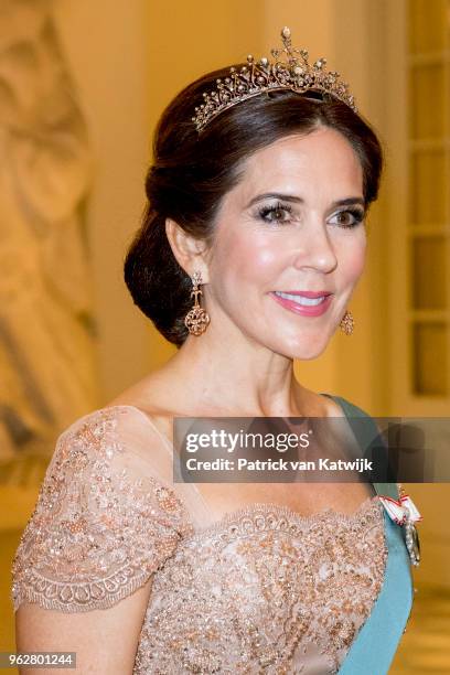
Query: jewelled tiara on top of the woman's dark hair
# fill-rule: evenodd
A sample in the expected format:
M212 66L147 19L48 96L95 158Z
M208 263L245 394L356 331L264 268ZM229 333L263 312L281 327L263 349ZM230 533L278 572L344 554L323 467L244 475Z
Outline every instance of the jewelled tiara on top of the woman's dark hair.
M204 93L204 103L195 108L192 121L199 133L221 113L264 92L289 89L298 94L320 92L323 98L339 98L357 113L349 85L335 71L326 71L325 58L310 65L308 52L292 47L290 29L281 31L282 49L271 50L275 61L265 56L258 62L250 55L240 69L229 68L229 76L216 81L216 88Z

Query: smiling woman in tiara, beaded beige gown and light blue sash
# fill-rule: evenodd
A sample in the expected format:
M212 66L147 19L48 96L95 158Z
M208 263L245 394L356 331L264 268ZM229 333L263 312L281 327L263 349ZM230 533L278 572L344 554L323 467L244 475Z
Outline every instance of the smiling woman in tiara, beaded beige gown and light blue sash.
M282 43L162 116L125 276L179 351L60 438L14 561L22 651L83 673L388 669L411 604L377 496L395 485L172 480L174 417L364 415L292 362L351 332L381 148L338 75Z

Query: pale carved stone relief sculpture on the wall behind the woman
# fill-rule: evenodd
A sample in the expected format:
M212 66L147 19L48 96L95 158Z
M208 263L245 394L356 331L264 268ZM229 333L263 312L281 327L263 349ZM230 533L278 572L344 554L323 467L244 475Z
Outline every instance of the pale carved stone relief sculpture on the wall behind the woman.
M49 0L0 3L0 460L96 404L86 126Z

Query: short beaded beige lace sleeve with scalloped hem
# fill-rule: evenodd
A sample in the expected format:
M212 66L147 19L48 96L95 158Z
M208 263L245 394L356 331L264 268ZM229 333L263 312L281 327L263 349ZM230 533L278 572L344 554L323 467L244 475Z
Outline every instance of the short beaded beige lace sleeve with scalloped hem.
M190 529L179 497L149 471L151 438L143 443L136 425L129 408L105 408L60 437L14 557L14 610L23 601L65 612L111 607Z

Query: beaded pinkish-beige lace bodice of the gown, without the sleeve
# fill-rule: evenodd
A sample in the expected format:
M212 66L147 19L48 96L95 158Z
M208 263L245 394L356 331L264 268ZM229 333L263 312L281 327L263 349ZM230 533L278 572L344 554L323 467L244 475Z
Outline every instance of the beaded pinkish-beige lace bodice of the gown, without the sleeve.
M302 517L256 505L186 537L138 649L149 673L336 673L382 588L381 505Z

